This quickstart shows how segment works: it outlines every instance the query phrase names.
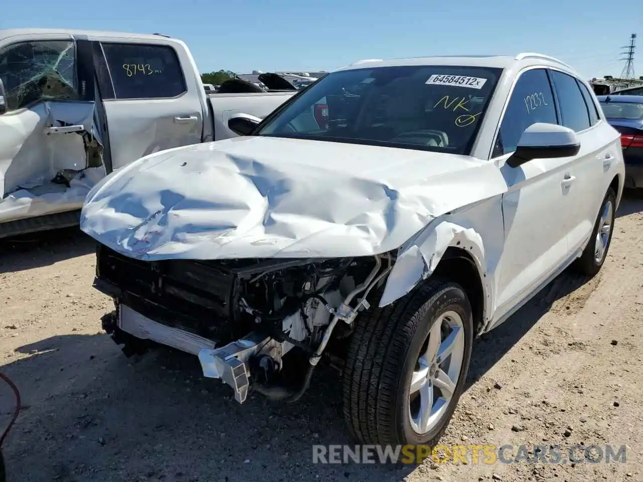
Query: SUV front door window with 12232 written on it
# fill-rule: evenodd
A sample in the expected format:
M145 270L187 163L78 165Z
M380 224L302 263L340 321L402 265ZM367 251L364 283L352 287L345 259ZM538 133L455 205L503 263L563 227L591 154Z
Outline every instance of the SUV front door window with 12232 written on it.
M514 152L525 129L537 122L557 123L554 96L545 69L528 70L518 78L500 124L492 157Z

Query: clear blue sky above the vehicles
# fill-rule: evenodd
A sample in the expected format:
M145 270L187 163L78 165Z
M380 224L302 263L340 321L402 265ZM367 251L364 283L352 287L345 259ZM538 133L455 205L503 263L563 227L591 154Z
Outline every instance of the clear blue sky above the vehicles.
M4 0L0 28L166 33L201 72L332 70L360 58L537 51L584 76L619 75L643 9L604 0ZM618 15L610 12L617 10ZM637 29L640 30L637 32Z

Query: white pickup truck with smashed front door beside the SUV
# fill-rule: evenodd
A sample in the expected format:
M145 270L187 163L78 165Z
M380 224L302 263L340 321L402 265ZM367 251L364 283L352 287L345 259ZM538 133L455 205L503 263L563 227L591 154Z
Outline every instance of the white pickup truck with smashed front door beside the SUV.
M230 83L206 94L166 35L0 30L0 238L73 226L109 172L236 136L232 116L264 118L296 93Z

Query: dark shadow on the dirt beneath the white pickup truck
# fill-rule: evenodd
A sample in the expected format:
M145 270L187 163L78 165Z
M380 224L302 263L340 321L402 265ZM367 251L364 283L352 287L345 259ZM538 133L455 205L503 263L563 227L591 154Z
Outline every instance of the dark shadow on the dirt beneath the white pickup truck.
M93 253L96 242L78 228L0 239L0 274L51 265Z

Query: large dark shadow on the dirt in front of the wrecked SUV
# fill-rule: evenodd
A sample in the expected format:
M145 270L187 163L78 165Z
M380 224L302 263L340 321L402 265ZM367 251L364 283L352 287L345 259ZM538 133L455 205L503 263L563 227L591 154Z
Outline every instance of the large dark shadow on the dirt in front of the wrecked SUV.
M3 367L23 397L3 447L9 482L397 482L413 469L312 464L312 445L351 443L331 372L297 404L239 406L196 357L165 348L132 361L107 335L64 335L17 351L29 355ZM0 393L3 427L14 399Z

